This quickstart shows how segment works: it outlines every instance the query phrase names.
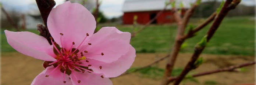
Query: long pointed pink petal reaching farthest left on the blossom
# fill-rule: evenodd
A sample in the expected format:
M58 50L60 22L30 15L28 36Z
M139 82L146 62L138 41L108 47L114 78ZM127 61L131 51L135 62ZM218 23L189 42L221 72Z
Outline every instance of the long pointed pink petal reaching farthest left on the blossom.
M56 61L53 55L53 46L46 38L31 32L11 32L4 30L7 42L18 52L45 61Z

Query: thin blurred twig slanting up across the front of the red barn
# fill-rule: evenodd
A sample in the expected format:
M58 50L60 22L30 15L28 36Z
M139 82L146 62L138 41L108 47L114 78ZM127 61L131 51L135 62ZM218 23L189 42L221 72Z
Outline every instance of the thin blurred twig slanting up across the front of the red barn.
M156 14L156 16L155 16L153 19L151 19L149 22L146 23L146 25L144 25L143 27L141 27L138 31L132 32L131 38L135 37L137 33L141 32L141 31L144 30L147 26L149 26L150 23L152 23L153 21L155 21L155 20L166 10L166 8L167 8L167 6L168 6L169 4L170 4L170 3L168 3L167 5L165 5L165 7L163 8L163 10L161 10L160 12L158 12L158 13Z

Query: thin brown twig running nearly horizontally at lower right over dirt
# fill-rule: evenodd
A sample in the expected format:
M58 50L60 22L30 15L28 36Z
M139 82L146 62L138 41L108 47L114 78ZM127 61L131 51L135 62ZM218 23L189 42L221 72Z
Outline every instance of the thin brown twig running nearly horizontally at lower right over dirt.
M212 70L212 71L206 71L206 72L202 72L202 73L198 73L198 74L193 74L192 77L199 77L199 76L203 76L203 75L209 75L209 74L220 73L220 72L225 72L225 71L234 71L235 69L242 68L242 67L245 67L245 66L254 65L254 64L255 64L255 61L247 62L247 63L238 64L238 65L234 65L234 66L224 67L224 68L217 69L217 70ZM171 82L176 80L176 79L177 79L177 77L170 77L169 78L169 80Z

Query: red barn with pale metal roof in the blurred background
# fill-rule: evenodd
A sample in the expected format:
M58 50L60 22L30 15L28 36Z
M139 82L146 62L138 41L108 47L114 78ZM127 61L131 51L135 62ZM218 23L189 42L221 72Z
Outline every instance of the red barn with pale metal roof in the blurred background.
M153 19L158 12L163 10L165 3L166 0L126 0L122 8L124 12L123 24L133 24L134 16L138 16L137 23L146 24L150 19ZM179 4L179 2L177 3ZM171 6L168 5L167 10L152 23L164 24L175 22L172 16L173 13L170 10ZM185 10L181 13L184 14L184 11Z

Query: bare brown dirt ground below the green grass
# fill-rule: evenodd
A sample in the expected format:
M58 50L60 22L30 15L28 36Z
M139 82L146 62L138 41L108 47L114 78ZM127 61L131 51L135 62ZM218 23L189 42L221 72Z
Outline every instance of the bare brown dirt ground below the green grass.
M159 56L159 57L156 57ZM138 53L132 67L145 66L148 63L165 56L165 53ZM175 67L184 67L189 60L191 53L179 54ZM198 69L197 73L215 70L221 67L241 64L255 60L253 56L237 55L201 55L205 63ZM18 52L1 54L1 85L30 85L33 79L41 73L44 68L43 61L22 55ZM160 62L157 66L164 68L166 61ZM196 77L200 83L186 82L184 85L204 85L205 81L217 82L217 85L242 85L255 84L255 66L245 67L245 72L222 72L201 77ZM114 85L159 85L160 79L142 77L139 73L132 73L111 79ZM183 85L182 84L182 85Z

